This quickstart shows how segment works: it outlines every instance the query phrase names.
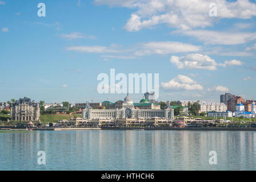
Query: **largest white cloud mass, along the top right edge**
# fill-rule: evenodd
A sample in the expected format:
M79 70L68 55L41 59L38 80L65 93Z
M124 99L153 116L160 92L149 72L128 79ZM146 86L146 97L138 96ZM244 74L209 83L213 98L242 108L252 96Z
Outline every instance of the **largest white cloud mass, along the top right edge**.
M216 18L209 17L211 0L94 0L97 5L122 6L137 9L124 27L139 31L166 23L183 30L212 26ZM250 19L256 15L256 5L249 0L230 2L217 0L218 18Z

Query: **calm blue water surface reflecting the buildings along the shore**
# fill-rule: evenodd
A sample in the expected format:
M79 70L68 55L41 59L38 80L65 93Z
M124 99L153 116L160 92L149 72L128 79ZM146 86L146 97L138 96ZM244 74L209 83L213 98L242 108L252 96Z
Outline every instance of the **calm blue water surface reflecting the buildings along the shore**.
M255 170L255 156L255 131L0 133L0 170Z

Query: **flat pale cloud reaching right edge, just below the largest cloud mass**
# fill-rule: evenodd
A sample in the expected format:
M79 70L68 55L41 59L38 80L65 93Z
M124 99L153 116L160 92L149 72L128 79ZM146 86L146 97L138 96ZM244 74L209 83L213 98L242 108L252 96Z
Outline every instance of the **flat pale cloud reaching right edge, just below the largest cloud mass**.
M209 30L182 30L174 34L194 36L205 44L236 45L244 44L256 39L256 33L251 32L221 32Z

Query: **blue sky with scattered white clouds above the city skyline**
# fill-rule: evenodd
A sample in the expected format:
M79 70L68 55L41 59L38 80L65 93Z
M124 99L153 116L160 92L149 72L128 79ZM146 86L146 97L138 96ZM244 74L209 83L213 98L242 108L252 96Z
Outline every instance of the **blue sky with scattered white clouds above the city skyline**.
M256 99L255 0L0 0L0 17L0 102L123 100L97 92L110 69L159 73L159 101Z

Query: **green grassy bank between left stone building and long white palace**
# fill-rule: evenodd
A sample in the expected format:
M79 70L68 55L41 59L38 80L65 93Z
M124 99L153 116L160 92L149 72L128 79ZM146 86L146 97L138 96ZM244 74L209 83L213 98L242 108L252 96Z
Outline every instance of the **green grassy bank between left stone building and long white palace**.
M70 120L71 118L82 118L82 115L79 114L70 114L70 115L40 115L41 123L54 123L61 121L63 119Z

